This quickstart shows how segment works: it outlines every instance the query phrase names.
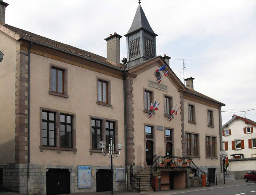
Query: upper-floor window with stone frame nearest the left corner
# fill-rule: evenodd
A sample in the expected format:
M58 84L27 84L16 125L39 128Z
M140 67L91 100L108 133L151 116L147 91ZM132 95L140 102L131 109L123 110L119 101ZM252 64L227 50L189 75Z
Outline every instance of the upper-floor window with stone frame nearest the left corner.
M67 68L50 64L49 94L68 98Z

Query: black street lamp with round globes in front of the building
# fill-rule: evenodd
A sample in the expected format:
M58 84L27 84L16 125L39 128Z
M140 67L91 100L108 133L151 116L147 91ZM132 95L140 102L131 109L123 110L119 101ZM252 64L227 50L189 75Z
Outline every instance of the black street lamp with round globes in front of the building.
M118 157L120 155L120 150L122 149L122 143L118 143L116 149L118 149L118 154L115 154L115 145L112 144L112 138L110 139L110 144L108 144L108 153L104 153L104 148L106 148L106 142L100 141L98 142L98 147L102 149L102 153L104 156L108 156L110 154L110 165L111 165L111 195L113 195L113 155Z

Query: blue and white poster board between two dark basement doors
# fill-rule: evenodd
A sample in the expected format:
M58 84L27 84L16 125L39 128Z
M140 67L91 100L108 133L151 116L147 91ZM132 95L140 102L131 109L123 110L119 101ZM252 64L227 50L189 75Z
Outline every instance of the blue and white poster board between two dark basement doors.
M91 188L91 166L78 166L78 188Z

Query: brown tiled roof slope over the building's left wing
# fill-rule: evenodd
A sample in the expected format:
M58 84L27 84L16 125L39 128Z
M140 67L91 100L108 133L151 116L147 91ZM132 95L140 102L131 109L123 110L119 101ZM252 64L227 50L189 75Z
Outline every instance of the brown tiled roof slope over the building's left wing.
M8 29L10 29L11 31L17 33L20 35L21 39L24 40L29 40L29 41L33 41L35 44L44 44L46 47L52 47L53 49L57 49L57 50L62 50L64 52L70 53L71 55L76 55L76 56L81 56L83 58L87 58L88 60L93 60L96 62L99 62L100 64L104 64L106 66L110 66L110 67L115 67L117 69L124 69L125 66L123 64L114 64L111 63L109 61L107 61L107 58L104 58L102 56L96 55L94 53L91 53L89 51L85 51L82 49L79 49L77 47L73 47L67 44L63 44L61 42L40 36L40 35L36 35L34 33L19 29L17 27L14 26L10 26L8 24L5 25L5 27L7 27Z

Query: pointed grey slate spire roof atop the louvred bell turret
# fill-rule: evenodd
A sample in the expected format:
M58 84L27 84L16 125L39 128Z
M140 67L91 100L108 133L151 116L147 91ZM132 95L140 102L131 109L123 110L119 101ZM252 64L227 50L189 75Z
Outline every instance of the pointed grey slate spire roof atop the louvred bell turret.
M148 31L148 33L151 33L154 36L158 36L156 33L154 33L154 31L150 27L147 17L145 16L145 13L141 7L141 4L139 4L137 8L137 11L134 16L134 20L132 22L132 26L130 27L128 33L124 36L130 35L140 29L144 29L145 31Z

